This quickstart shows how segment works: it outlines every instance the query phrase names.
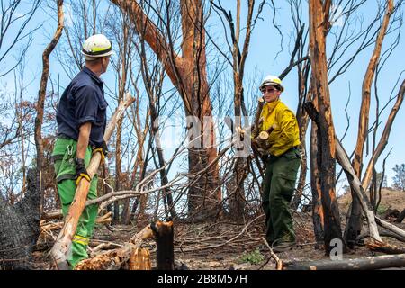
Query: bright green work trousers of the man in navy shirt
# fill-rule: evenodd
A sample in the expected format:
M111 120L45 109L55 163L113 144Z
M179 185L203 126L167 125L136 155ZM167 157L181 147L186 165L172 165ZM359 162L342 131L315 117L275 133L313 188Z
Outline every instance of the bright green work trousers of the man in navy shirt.
M62 205L62 213L65 217L76 193L76 140L60 139L55 143L52 152L55 175L58 183L58 194ZM92 157L90 146L85 151L85 166L88 166ZM97 197L97 176L94 175L90 184L87 199ZM74 268L76 264L87 258L87 245L93 235L94 222L97 217L97 205L86 206L79 218L76 234L72 239L72 246L68 252L67 261Z

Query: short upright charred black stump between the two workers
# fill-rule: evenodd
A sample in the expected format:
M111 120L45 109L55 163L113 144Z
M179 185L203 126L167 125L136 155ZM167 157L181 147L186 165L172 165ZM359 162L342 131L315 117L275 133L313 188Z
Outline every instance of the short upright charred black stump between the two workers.
M174 270L175 268L175 247L173 222L157 221L152 223L150 228L156 240L156 263L157 270Z

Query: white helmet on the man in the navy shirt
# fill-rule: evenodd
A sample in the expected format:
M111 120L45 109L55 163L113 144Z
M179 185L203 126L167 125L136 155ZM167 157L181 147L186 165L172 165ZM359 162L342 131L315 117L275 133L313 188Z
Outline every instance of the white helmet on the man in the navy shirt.
M86 60L94 60L95 58L111 56L111 42L103 34L95 34L85 40L83 44L82 54Z

